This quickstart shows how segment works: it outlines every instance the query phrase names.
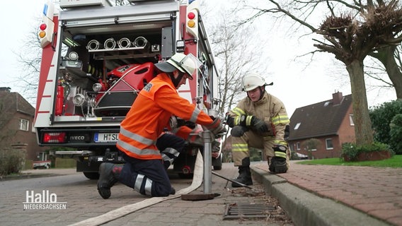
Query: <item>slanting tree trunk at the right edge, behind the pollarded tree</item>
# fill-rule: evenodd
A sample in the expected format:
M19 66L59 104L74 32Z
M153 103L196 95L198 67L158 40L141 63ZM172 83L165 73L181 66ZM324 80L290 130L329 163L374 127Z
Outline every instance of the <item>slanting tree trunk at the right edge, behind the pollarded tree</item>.
M402 99L402 72L400 71L394 53L396 46L389 46L384 49L380 49L376 57L382 64L384 64L386 73L392 84L394 84L396 98Z

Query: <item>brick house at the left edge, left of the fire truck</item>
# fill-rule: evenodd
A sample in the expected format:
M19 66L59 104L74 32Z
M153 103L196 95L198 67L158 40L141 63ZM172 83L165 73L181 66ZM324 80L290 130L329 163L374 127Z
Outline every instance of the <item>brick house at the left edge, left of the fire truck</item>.
M25 148L27 160L37 160L40 147L33 128L35 108L11 88L0 87L0 145L2 148Z

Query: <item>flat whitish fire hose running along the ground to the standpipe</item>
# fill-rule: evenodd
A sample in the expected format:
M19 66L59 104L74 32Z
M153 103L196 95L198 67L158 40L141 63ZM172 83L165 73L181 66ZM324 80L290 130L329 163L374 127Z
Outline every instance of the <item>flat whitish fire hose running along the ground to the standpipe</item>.
M194 175L193 175L193 182L190 186L185 189L181 189L180 191L176 192L176 194L166 197L153 197L147 198L144 201L140 201L138 203L132 203L127 206L123 206L117 208L115 210L111 210L108 213L103 215L99 215L98 217L88 218L81 222L76 222L75 225L82 225L82 226L89 226L89 225L102 225L106 222L115 220L117 218L121 218L127 214L134 213L137 210L141 210L142 208L146 208L148 206L152 206L156 203L160 203L162 201L170 200L173 198L178 198L183 194L188 194L191 191L194 191L202 184L202 176L204 172L204 161L202 160L202 155L200 152L197 153L197 159L195 160L195 167L194 167Z

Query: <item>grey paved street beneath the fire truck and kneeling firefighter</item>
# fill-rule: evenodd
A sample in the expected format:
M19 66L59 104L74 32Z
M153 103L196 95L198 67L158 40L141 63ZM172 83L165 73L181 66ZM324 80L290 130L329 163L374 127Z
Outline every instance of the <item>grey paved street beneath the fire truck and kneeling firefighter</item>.
M229 178L237 175L233 163L224 163L218 172ZM71 225L149 199L123 184L116 184L112 188L112 196L105 200L96 190L96 180L87 179L75 169L36 169L28 174L33 178L0 181L1 225ZM42 177L35 176L37 174L42 174ZM177 174L170 176L176 191L185 189L192 182L192 179L180 179ZM195 192L202 193L202 187ZM258 192L264 190L260 184L255 183L251 193L245 190L248 189L226 187L226 180L213 176L212 192L219 194L217 198L207 201L175 198L142 208L105 225L292 225L285 213L277 211L279 218L273 218L272 214L270 219L224 220L228 203L267 203L270 200L273 205L277 204L275 199L267 199L264 192ZM24 205L42 200L54 201L59 205Z

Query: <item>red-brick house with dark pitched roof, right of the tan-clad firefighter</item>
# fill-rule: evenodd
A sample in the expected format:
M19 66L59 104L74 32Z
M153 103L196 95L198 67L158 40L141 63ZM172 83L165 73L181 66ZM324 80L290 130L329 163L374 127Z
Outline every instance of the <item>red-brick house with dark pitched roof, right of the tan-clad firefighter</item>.
M310 158L340 157L342 144L355 142L352 95L297 108L290 118L289 147Z

